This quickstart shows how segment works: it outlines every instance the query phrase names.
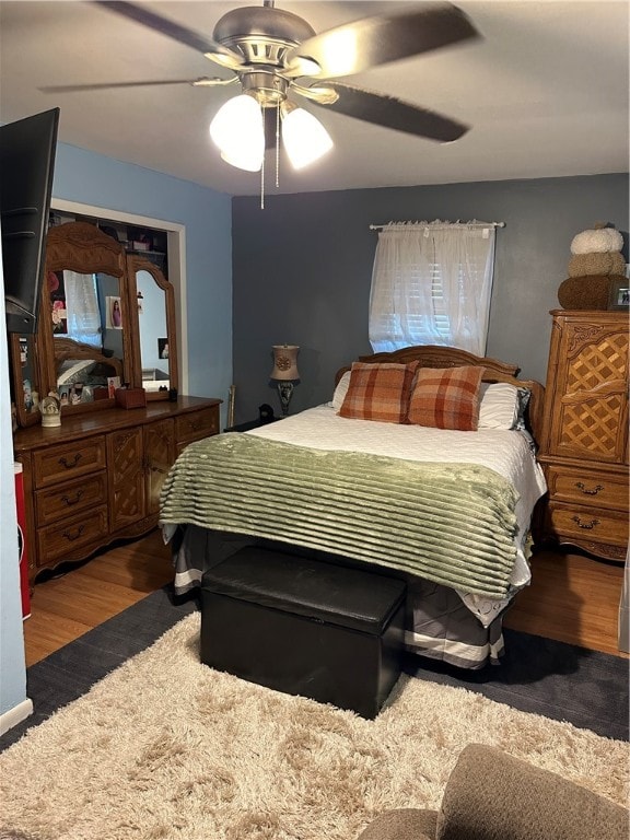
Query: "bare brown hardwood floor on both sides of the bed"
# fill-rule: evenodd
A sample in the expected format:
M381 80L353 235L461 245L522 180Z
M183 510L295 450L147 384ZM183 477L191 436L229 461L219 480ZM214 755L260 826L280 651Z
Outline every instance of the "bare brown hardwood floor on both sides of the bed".
M518 593L505 626L628 658L618 650L623 568L580 555L541 551L532 584ZM59 571L59 570L58 570ZM159 530L116 546L37 583L24 622L26 665L79 638L173 579Z

